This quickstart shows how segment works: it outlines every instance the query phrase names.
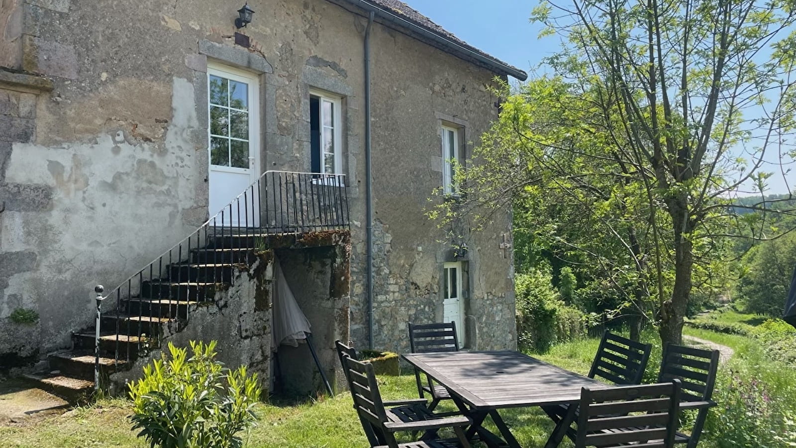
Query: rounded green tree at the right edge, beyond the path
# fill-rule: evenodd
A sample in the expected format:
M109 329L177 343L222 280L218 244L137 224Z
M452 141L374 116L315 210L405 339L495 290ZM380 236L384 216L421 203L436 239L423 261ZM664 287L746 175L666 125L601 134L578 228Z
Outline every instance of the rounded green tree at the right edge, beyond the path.
M796 232L762 242L743 257L747 273L738 293L744 311L780 317L785 307L790 276L796 267Z

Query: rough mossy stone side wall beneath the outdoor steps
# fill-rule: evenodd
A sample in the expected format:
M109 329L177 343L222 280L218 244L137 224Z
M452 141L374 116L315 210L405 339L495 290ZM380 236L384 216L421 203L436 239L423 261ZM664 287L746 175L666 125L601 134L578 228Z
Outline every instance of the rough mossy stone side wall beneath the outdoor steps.
M271 282L273 281L273 253L259 253L248 269L238 269L232 286L216 293L209 305L193 307L190 321L176 332L164 328L162 350L173 343L190 347L192 340L217 340L217 360L225 367L246 366L248 372L259 376L263 391L268 388L271 375ZM190 349L190 348L189 348ZM160 358L162 350L154 350L135 362L129 371L111 375L113 390L124 391L124 384L138 379L142 367Z

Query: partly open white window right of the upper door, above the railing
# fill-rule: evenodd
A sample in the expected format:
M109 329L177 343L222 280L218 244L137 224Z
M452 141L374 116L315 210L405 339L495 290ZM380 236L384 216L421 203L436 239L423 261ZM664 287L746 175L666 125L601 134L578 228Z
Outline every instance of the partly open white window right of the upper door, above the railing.
M312 172L341 174L341 98L310 92L310 143Z

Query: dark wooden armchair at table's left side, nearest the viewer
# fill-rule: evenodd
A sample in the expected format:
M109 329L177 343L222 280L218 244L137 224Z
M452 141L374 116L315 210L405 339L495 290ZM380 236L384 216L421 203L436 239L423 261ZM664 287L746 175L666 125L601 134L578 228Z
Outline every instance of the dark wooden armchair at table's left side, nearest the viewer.
M470 448L464 434L464 426L472 420L462 415L434 415L424 404L385 408L381 400L379 385L373 365L361 363L350 356L342 356L346 378L349 379L353 407L368 434L370 445L376 448ZM423 400L425 403L425 400ZM456 438L436 438L436 431L453 428ZM408 431L413 434L425 431L422 440L398 443L395 433Z

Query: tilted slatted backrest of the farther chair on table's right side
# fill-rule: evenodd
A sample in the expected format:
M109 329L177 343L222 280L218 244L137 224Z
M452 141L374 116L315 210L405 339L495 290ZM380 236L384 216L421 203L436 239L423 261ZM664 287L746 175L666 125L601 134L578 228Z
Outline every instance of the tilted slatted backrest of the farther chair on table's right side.
M606 331L588 376L619 385L640 384L650 352L652 344L642 344Z

